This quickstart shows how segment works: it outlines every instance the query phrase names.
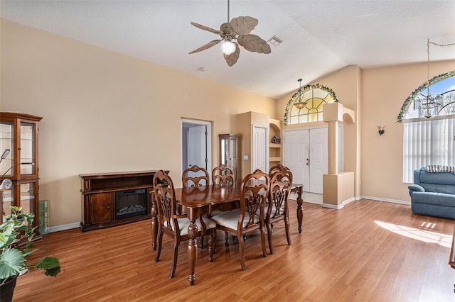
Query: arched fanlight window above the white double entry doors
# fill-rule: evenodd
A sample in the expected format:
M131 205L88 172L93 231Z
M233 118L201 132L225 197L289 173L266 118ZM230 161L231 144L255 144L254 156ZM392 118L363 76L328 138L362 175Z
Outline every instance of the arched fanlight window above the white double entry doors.
M323 105L338 101L335 92L321 84L306 85L301 88L301 93L303 93L301 99L299 91L296 91L287 103L284 125L322 121ZM299 101L307 103L303 108L297 108L294 104Z

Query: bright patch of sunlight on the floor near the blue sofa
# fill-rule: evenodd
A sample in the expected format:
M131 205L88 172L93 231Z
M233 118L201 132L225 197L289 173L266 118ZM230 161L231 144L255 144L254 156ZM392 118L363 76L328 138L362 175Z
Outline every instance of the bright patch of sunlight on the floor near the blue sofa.
M375 223L381 228L385 228L386 230L390 230L391 232L399 235L410 237L412 239L420 240L423 242L437 243L443 247L451 247L451 235L429 231L429 229L434 228L434 223L422 223L421 227L424 228L424 230L418 228L410 228L403 225L394 225L392 223L384 223L382 221L376 220Z

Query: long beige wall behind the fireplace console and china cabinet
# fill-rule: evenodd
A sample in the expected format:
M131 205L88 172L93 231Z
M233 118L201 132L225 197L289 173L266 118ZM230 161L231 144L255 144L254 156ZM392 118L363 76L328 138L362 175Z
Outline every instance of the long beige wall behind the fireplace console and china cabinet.
M1 111L43 116L40 200L50 226L81 221L79 174L170 169L181 179L181 118L237 133L237 113L276 101L1 19Z

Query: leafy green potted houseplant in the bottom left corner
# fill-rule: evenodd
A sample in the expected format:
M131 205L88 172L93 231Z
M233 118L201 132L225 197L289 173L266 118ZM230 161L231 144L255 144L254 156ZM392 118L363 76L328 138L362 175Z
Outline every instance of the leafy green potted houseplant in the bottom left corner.
M19 273L35 268L43 269L46 276L57 276L60 262L54 257L44 257L37 264L27 262L26 257L37 251L33 249L33 236L38 226L30 227L33 215L11 206L11 215L5 216L4 221L0 225L0 300L11 301Z

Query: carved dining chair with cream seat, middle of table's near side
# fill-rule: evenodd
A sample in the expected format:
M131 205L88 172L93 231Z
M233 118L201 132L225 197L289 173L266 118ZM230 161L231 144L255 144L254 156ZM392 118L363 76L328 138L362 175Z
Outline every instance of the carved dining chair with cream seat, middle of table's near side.
M244 235L259 230L261 235L262 255L267 257L265 247L265 214L264 206L269 194L269 175L257 170L248 174L240 187L240 208L223 212L210 218L215 221L216 228L230 235L237 236L239 242L240 266L245 270L245 239Z

